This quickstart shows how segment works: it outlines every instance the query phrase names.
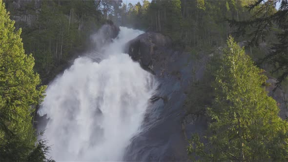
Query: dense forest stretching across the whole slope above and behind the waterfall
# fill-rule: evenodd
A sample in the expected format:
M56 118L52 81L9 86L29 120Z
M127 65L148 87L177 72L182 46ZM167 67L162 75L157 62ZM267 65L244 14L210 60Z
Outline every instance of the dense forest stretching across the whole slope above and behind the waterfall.
M185 47L193 54L203 49L213 51L224 46L230 34L235 35L237 41L247 42L247 54L268 75L284 74L283 80L287 71L287 62L281 62L287 60L283 53L287 20L277 20L285 18L287 4L286 0L280 0L282 10L275 14L278 1L259 4L250 10L247 6L253 2L247 0L144 0L135 5L123 0L4 0L11 18L16 20L16 28L22 28L25 52L36 58L35 70L45 83L75 54L89 48L90 35L106 20L168 35L172 45ZM264 25L257 25L258 21ZM277 40L278 35L284 36L283 41ZM262 50L261 46L269 48L272 43L273 47L279 46L277 49L282 50L284 58L281 51L276 50L277 55ZM266 58L269 53L272 56Z

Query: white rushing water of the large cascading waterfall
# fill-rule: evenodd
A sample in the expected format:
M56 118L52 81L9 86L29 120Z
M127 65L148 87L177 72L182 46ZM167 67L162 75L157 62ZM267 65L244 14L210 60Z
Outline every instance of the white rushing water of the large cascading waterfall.
M103 45L102 61L78 58L49 84L38 113L48 119L42 129L54 160L122 160L129 140L140 131L157 84L139 63L122 53L123 45L139 34L121 27L118 38ZM94 40L101 41L101 35L100 30Z

